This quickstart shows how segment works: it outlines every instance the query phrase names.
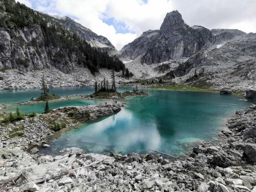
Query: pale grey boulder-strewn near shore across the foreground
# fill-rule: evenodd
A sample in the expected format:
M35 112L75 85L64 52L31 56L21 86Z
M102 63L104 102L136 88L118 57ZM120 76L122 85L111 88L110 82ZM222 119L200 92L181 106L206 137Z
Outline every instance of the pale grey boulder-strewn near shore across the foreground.
M22 146L5 144L1 188L13 192L255 192L255 119L255 105L236 112L228 120L229 130L219 134L226 142L201 143L189 157L179 159L164 159L160 154L104 156L78 148L62 150L55 157L39 156L37 150L28 153Z

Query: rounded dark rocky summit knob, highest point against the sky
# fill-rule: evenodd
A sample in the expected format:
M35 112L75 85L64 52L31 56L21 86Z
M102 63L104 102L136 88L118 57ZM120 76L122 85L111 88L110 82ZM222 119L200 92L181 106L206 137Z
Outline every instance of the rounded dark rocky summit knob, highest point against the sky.
M184 28L186 28L186 24L181 14L176 10L166 14L160 31L163 34L172 35Z

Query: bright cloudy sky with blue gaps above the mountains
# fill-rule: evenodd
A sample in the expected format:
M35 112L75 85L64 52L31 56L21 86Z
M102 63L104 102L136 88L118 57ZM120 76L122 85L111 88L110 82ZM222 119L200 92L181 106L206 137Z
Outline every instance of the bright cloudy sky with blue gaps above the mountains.
M52 15L70 16L119 50L142 32L159 29L178 10L190 26L256 32L256 0L18 0Z

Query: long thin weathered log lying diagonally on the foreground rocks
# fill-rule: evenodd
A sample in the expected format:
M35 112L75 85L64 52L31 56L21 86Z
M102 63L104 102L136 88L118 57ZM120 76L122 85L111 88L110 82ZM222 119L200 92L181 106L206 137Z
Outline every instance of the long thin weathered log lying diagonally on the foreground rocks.
M107 158L106 158L107 159ZM103 160L100 160L100 161L96 161L96 162L93 162L89 165L85 165L85 166L82 166L82 167L77 167L75 169L70 169L68 171L65 171L65 172L62 172L62 173L57 173L57 174L54 174L54 175L51 175L51 176L48 176L48 177L40 177L40 178L37 178L35 180L32 180L35 184L41 184L45 181L48 181L48 180L51 180L51 179L56 179L56 178L59 178L59 177L62 177L64 175L67 175L73 171L76 171L77 169L80 169L80 168L87 168L87 167L90 167L92 165L96 165L96 164L99 164L100 162L106 160L106 159L103 159Z

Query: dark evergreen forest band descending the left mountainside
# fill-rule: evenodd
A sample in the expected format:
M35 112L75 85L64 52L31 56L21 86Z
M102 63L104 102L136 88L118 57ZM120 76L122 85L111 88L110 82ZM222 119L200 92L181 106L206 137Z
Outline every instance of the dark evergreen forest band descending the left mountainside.
M99 72L100 68L107 68L114 69L116 72L122 71L122 76L126 78L133 76L117 56L109 56L101 48L90 46L77 34L71 33L63 25L53 22L50 16L36 12L14 0L4 1L4 7L0 6L0 12L3 10L8 14L1 18L1 27L17 30L25 26L40 26L44 41L38 42L36 38L33 38L30 42L35 47L38 56L41 56L40 48L44 46L54 64L67 65L76 62L80 67L88 68L92 74ZM57 53L51 51L54 47L59 48ZM75 60L73 55L76 56ZM24 62L24 66L28 65Z

